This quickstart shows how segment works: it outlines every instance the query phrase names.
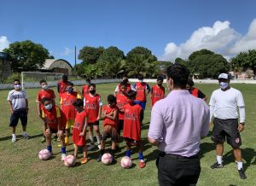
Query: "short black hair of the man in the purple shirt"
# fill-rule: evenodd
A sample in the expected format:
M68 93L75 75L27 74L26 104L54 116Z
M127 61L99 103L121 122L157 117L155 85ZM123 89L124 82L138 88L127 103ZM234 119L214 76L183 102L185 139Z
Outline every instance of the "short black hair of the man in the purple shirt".
M189 79L189 69L180 64L167 67L167 78L172 78L174 87L186 88Z

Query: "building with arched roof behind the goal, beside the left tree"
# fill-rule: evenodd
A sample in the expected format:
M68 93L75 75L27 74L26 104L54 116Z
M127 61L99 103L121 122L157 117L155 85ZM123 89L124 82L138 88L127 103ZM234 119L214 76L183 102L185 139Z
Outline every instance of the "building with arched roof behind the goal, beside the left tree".
M66 73L67 75L72 75L73 67L66 60L46 59L44 67L41 68L41 71L49 73Z

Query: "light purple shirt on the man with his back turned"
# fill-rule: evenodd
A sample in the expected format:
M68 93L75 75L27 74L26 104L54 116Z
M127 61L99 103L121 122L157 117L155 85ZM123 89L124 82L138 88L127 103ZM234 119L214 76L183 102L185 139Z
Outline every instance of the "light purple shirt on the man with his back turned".
M190 157L198 154L201 137L207 137L209 119L206 102L188 90L172 90L154 104L148 137L162 137L158 148L166 154Z

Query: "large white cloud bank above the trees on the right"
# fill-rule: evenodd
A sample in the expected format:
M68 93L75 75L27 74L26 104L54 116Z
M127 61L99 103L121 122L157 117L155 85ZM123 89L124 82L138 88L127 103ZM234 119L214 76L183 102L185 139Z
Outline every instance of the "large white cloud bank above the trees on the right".
M249 26L245 36L241 36L230 27L230 21L216 21L212 27L203 26L192 33L182 44L166 44L162 61L174 61L177 57L188 59L196 50L210 49L226 58L239 54L241 51L256 49L256 19Z

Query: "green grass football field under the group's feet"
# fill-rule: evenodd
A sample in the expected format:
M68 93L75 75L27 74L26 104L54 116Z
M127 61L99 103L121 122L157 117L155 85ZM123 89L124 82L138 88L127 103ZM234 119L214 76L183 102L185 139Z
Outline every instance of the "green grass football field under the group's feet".
M151 84L152 85L152 84ZM97 84L96 90L102 95L103 103L106 103L108 94L113 93L116 84ZM207 96L208 101L212 90L218 88L218 84L196 84ZM233 153L229 145L224 145L224 168L212 170L210 166L215 162L214 145L210 137L201 141L201 176L197 185L256 185L256 84L232 84L234 88L241 90L246 102L246 128L241 133L242 154L247 179L241 180L238 176ZM80 89L80 87L78 87ZM167 90L168 91L168 90ZM38 152L45 148L41 143L42 121L36 111L36 95L38 90L26 90L29 96L29 114L27 133L29 140L22 139L21 125L17 127L19 141L11 142L9 129L9 106L6 101L9 90L0 91L0 185L158 185L155 159L156 148L152 147L147 140L148 125L150 120L150 99L145 111L143 121L142 138L144 143L144 156L147 166L138 168L137 152L131 155L134 166L125 170L119 165L119 160L125 156L125 143L120 144L122 152L116 154L118 163L104 166L96 162L98 151L90 151L89 162L73 168L67 168L61 162L58 142L53 142L55 156L51 160L38 159ZM254 95L254 96L253 96ZM211 132L209 133L209 136ZM109 142L108 142L109 145ZM73 153L73 145L67 147L67 154ZM81 160L82 154L79 154Z

